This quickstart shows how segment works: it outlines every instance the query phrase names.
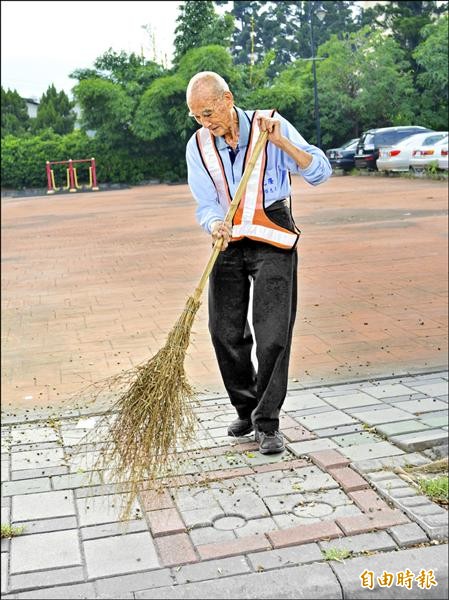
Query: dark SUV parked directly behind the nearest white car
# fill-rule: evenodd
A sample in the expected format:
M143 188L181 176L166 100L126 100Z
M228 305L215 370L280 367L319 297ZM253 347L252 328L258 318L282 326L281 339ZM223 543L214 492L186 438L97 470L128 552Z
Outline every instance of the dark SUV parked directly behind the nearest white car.
M354 160L356 168L369 169L370 171L376 170L376 160L379 158L379 148L381 146L392 146L410 135L424 133L425 131L431 130L426 127L419 127L418 125L406 125L364 131L355 152Z

